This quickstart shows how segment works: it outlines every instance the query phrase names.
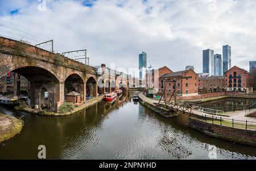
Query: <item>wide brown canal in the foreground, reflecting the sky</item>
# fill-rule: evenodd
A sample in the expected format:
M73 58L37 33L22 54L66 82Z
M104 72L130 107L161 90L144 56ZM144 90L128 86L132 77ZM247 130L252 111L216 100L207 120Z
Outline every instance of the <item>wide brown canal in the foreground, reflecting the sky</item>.
M191 130L186 115L162 118L131 97L59 118L0 107L24 120L21 134L0 144L0 159L37 159L39 145L47 159L256 159L255 147Z

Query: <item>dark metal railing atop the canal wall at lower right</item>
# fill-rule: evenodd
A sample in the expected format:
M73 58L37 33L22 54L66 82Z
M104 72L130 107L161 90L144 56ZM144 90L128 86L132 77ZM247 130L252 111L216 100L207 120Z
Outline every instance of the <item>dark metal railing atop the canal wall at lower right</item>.
M199 119L206 123L218 124L226 127L239 128L243 130L253 130L256 131L256 122L249 122L247 120L236 120L236 119L223 119L221 116L214 115L201 115L201 116L191 116L191 118Z

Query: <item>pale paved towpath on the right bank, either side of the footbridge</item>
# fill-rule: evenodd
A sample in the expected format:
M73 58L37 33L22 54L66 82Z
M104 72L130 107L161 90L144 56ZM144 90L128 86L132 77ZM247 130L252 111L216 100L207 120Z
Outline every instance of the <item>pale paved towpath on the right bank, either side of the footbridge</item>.
M139 98L141 98L142 101L145 101L145 102L150 103L152 105L154 105L154 102L158 102L154 99L147 98L143 94L139 94ZM192 112L193 112L193 114L197 114L197 115L200 115L200 116L207 114L205 112L201 112L201 111L198 111L198 110L192 110ZM225 115L229 115L229 116L221 116L221 118L241 120L243 122L245 122L247 120L248 122L255 122L255 124L256 124L256 117L245 116L245 111L226 112ZM207 116L212 116L212 115L207 114ZM216 116L216 115L213 115L213 116ZM220 116L218 116L218 117L220 117Z

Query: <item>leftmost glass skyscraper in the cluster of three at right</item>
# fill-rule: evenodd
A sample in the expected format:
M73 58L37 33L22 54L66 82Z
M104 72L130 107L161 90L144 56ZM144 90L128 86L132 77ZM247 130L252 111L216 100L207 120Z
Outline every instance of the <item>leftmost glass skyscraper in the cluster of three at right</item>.
M203 51L203 73L214 75L214 51L211 49Z

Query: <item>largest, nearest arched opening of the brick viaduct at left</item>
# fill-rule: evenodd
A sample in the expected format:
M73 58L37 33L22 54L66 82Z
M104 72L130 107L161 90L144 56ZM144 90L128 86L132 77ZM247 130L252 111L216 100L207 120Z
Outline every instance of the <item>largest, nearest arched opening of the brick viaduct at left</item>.
M33 109L48 109L56 111L56 102L59 101L59 80L48 70L26 66L12 71L18 74L17 79L24 77L28 80L27 105ZM20 80L17 84L20 84ZM20 87L14 84L14 91L20 91ZM15 93L14 93L15 94ZM19 95L20 93L16 93Z

